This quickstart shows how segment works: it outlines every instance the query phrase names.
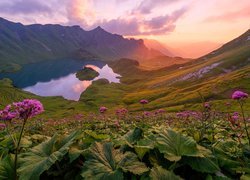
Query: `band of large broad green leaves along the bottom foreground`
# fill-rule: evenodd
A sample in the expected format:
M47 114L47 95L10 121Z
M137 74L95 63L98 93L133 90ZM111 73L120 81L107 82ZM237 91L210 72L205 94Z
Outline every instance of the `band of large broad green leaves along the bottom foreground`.
M55 134L41 143L31 139L23 142L18 175L25 180L247 178L250 149L238 146L229 139L198 144L165 126L135 127L115 138L90 130L74 131ZM1 159L1 179L14 178L13 152L10 148Z

